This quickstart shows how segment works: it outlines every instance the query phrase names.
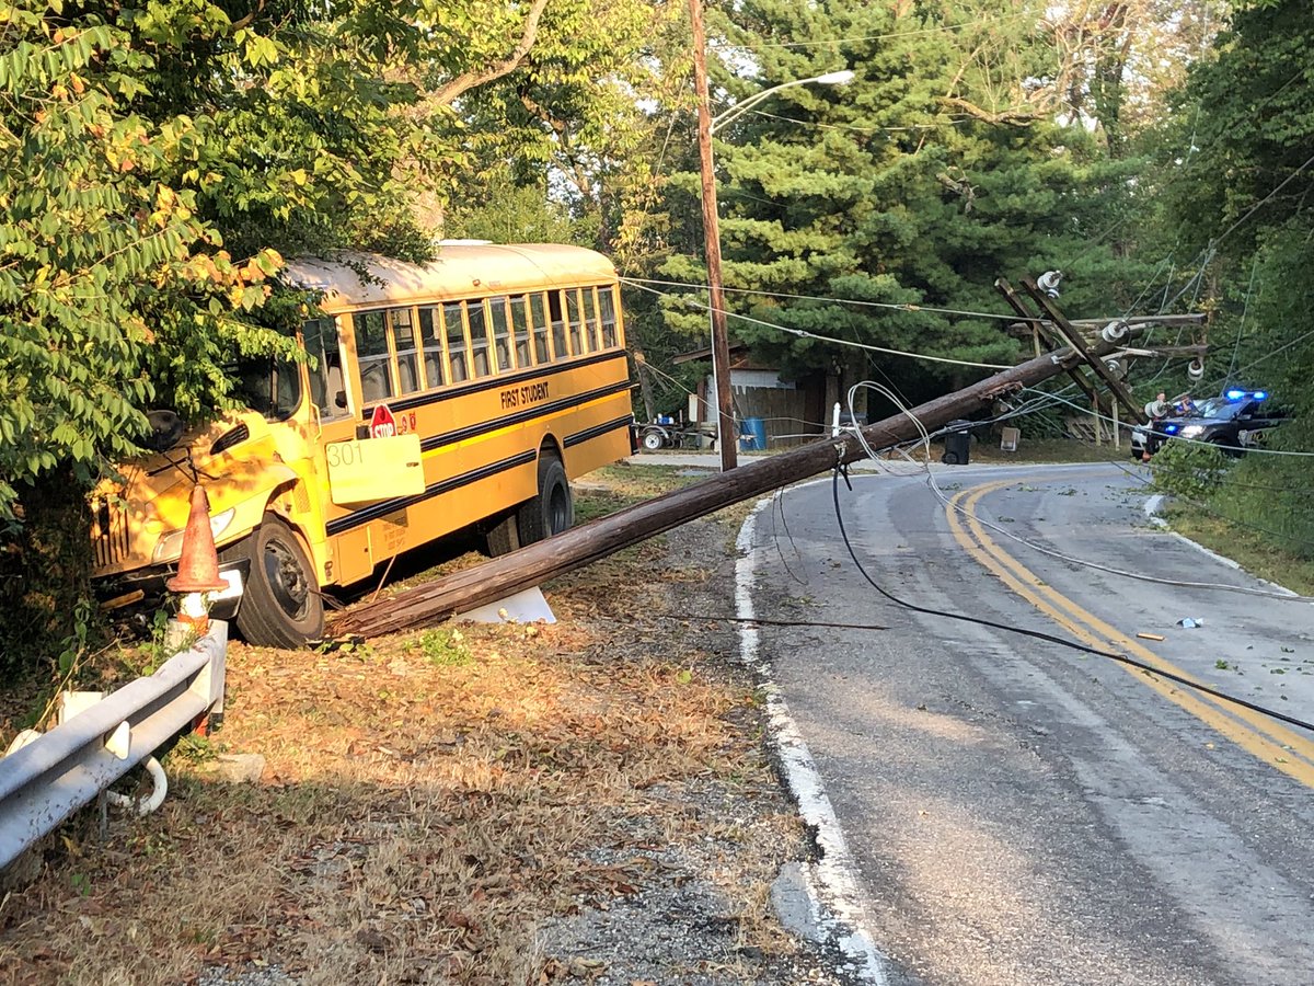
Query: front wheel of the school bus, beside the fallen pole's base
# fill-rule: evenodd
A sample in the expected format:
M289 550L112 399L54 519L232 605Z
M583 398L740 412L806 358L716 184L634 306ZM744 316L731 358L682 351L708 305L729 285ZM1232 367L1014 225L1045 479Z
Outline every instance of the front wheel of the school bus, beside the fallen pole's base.
M248 644L296 648L323 636L325 607L315 569L285 522L265 515L250 538L223 553L251 560L237 615Z

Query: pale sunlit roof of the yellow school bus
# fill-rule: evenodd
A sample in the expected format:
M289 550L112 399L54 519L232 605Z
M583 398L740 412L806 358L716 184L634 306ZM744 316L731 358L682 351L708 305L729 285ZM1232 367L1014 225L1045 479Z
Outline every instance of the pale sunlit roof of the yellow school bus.
M368 276L361 277L360 270ZM606 283L615 280L616 268L602 254L577 246L445 243L430 264L343 254L336 260L293 260L284 277L293 285L323 291L321 306L340 312Z

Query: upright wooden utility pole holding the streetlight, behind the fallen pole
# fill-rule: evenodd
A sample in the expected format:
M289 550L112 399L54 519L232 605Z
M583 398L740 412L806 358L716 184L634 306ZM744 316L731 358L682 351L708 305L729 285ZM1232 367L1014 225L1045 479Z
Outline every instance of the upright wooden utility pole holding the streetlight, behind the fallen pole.
M725 294L721 292L721 227L716 214L716 172L712 166L712 112L707 95L707 39L702 0L689 0L694 28L694 89L698 93L698 166L703 176L703 243L707 251L707 293L712 316L712 376L716 380L716 443L721 472L737 464L735 408L731 398L731 347L725 338Z

